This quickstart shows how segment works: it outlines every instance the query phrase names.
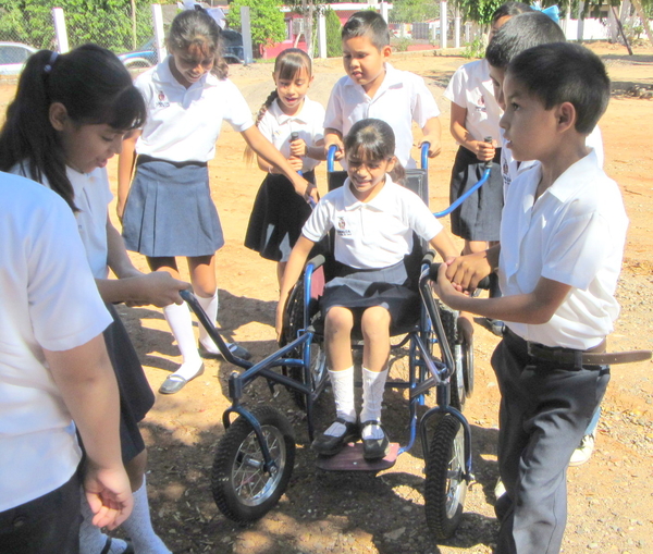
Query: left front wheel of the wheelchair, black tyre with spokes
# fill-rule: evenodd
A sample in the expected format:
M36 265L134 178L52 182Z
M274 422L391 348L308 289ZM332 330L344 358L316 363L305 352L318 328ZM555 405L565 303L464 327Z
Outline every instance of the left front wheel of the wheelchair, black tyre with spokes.
M237 522L263 517L285 492L295 464L295 438L287 419L270 406L251 410L276 468L263 468L263 453L247 420L237 418L218 444L211 490L218 508Z

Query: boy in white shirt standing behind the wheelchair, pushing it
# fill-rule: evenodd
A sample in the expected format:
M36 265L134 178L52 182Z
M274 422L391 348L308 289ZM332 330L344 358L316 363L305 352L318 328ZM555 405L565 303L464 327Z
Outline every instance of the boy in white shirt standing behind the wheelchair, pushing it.
M373 11L357 12L342 30L343 64L347 76L341 78L329 98L324 119L324 148L338 147L343 159L343 137L357 121L375 118L389 123L396 137L399 163L416 168L410 157L412 122L422 130L421 143L429 143L429 158L440 153L440 109L424 81L410 72L395 70L387 60L392 53L390 30ZM420 143L420 145L421 145ZM342 160L345 165L344 160Z

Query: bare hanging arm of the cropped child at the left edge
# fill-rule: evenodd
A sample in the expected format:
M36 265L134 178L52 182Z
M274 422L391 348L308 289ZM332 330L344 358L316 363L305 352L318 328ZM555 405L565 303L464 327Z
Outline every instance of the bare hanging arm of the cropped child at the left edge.
M119 396L115 374L100 334L70 350L44 350L52 378L86 451L84 489L93 522L114 529L132 512L119 435Z

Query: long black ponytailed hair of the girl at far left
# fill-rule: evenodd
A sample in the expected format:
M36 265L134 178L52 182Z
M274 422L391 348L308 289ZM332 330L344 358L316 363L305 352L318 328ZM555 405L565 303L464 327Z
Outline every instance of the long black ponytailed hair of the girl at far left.
M47 180L76 210L61 138L50 124L53 102L75 124L125 132L141 126L147 111L130 72L104 48L84 45L60 56L41 50L27 60L0 131L0 171L24 163L30 178Z

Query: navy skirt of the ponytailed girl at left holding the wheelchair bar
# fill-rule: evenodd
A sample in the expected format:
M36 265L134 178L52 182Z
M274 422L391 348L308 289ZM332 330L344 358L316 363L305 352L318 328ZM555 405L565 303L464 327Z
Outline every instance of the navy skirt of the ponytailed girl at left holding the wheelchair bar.
M104 330L104 342L118 381L121 453L123 463L127 463L145 450L138 422L155 405L155 394L118 311L111 304L107 309L113 323Z

